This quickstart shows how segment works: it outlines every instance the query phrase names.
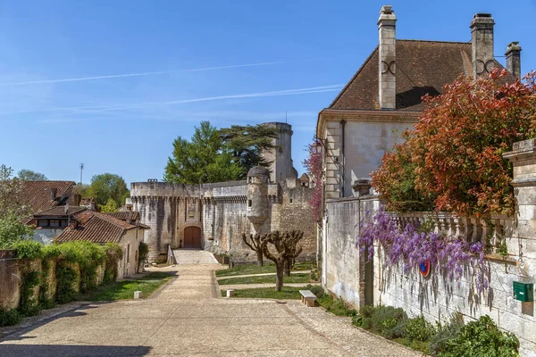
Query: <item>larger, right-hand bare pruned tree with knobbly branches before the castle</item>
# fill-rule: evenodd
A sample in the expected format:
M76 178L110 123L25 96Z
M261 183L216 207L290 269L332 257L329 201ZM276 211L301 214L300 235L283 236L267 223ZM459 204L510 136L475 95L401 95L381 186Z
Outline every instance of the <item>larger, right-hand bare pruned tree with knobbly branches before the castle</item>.
M297 243L303 237L303 232L296 230L284 233L276 230L261 237L264 256L275 263L275 291L281 291L283 287L286 262L302 252L302 247L297 247ZM269 245L272 245L272 249Z

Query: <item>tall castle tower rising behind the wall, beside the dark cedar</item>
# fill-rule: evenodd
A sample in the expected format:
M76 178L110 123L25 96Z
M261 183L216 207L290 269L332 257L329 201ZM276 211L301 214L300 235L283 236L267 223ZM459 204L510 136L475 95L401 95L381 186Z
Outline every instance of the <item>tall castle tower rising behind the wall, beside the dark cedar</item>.
M297 179L297 171L292 164L292 126L282 122L267 122L263 125L279 129L279 137L273 139L275 147L263 153L264 160L271 162L270 181L276 183Z

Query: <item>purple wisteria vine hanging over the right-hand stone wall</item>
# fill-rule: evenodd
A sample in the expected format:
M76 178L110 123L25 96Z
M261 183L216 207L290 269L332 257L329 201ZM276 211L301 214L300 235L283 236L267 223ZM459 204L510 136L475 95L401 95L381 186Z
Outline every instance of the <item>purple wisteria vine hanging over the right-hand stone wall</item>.
M450 281L459 280L464 267L473 269L479 292L488 289L488 268L484 263L484 246L480 242L468 243L461 237L448 237L435 232L422 232L413 224L399 229L395 220L384 211L367 216L360 223L357 247L364 254L368 249L373 258L374 243L381 245L386 253L385 263L398 266L402 263L407 274L420 264L430 261L431 265L446 272Z

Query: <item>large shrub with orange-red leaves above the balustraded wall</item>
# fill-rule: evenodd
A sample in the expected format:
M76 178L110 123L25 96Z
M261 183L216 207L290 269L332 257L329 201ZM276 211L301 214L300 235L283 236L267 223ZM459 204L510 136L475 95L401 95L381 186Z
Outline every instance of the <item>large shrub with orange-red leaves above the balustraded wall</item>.
M536 72L507 84L507 71L490 78L460 77L442 95L426 96L426 109L406 144L385 154L373 186L388 209L417 209L484 216L514 212L512 166L502 154L534 137ZM453 185L452 183L456 183Z

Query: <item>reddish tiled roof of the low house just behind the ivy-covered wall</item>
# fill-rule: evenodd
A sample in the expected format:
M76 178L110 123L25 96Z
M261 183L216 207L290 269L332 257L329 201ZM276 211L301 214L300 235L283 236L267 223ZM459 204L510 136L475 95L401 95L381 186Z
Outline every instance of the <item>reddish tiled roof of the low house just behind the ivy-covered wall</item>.
M58 243L88 241L93 243L118 243L127 230L137 228L107 214L84 211L74 216L80 222L77 227L65 228L56 238Z

